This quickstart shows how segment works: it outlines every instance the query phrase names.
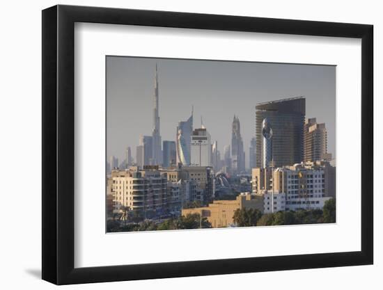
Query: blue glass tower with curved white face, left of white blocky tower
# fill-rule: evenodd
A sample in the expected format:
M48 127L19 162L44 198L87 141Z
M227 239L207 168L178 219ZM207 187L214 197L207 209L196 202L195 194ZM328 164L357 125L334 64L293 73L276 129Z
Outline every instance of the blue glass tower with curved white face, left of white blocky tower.
M190 142L193 131L193 110L187 121L178 122L177 127L177 163L190 165Z

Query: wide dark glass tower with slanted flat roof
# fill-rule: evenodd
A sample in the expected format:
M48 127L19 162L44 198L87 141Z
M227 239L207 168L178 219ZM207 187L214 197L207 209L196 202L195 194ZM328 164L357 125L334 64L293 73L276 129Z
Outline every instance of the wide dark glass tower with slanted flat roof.
M274 166L292 166L303 159L303 129L306 99L294 97L256 105L256 167L262 167L263 120L272 128Z

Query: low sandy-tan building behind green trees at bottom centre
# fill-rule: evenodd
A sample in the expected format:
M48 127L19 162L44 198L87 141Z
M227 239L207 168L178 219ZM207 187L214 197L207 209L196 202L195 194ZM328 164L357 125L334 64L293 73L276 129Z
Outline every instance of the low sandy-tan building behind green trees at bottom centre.
M263 203L263 195L242 193L236 200L214 200L208 207L182 209L182 216L200 214L208 218L212 227L229 227L233 225L233 216L237 209L258 209L263 212Z

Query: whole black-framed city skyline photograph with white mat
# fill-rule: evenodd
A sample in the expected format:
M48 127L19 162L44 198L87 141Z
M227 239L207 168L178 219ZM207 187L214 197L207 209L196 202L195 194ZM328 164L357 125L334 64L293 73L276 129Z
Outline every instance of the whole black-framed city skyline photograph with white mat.
M373 264L373 26L42 11L42 279Z

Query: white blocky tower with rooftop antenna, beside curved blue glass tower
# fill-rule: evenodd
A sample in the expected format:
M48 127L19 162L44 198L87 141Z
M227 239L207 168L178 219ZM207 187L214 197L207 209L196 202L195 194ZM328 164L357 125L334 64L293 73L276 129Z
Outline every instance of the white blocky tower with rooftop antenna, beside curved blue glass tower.
M192 166L211 166L210 134L205 127L194 129L190 145Z

